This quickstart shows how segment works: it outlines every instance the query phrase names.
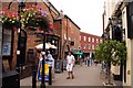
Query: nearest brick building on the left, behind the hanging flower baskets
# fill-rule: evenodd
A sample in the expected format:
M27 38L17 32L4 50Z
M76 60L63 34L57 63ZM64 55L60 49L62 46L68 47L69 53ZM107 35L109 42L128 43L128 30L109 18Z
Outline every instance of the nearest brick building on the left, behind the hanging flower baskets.
M35 2L27 2L25 7L34 6ZM9 2L2 2L2 10L11 11L11 12L18 12L18 2L12 2L9 7ZM52 34L47 35L47 41L52 44L54 44L58 50L54 51L55 56L59 56L59 47L60 47L60 30L54 29L54 19L60 15L59 11L50 3L50 2L38 2L35 7L41 7L42 10L47 11L50 15L51 26L53 29ZM30 31L30 30L23 30L21 31L21 50L20 50L20 63L21 65L27 66L28 58L27 54L30 48L35 50L35 45L41 44L42 42L35 42L37 40L41 40L41 37L37 37L33 32L40 32L39 29L37 31ZM2 64L4 67L4 70L12 70L16 69L17 65L17 50L18 50L18 30L10 29L6 30L2 29ZM54 41L54 42L53 42ZM8 44L9 53L4 53L6 44ZM24 67L27 69L27 67ZM24 70L24 69L23 69ZM30 73L30 72L29 72Z

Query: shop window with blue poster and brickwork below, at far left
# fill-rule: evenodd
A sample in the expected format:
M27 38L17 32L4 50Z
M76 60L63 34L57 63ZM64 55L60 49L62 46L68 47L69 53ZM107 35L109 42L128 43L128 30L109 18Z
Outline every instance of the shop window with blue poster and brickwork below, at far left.
M11 29L3 29L1 52L3 70L11 70L11 61L13 57L13 31Z

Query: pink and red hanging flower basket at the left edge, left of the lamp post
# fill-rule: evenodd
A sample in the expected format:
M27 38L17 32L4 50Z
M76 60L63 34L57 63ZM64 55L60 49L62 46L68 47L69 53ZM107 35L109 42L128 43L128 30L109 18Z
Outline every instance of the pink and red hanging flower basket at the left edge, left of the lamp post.
M18 14L9 11L0 11L0 22L2 29L13 29L19 26Z

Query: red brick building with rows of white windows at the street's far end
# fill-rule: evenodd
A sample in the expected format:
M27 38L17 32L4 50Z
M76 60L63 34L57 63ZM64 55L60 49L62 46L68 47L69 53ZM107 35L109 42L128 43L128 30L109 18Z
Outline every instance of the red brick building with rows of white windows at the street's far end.
M84 55L89 55L90 53L93 53L94 48L98 47L98 43L101 41L102 41L101 36L81 32L80 33L80 43L81 43L80 50L84 53Z

